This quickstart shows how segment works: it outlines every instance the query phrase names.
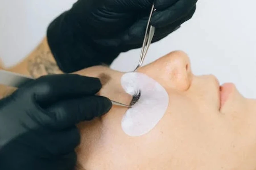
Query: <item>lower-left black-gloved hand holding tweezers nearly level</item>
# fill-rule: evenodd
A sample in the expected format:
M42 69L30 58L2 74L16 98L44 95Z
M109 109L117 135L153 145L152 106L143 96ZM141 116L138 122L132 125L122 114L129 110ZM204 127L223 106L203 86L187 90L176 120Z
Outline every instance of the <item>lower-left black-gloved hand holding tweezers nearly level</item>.
M0 100L0 169L73 170L76 124L109 111L97 78L41 77Z

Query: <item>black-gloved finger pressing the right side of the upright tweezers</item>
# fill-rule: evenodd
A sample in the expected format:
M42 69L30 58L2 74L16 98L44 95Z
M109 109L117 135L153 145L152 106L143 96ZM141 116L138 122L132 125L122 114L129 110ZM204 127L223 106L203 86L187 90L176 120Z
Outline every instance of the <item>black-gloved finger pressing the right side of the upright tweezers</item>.
M186 15L191 9L195 9L197 0L179 0L173 6L163 11L155 11L151 22L154 27L164 27L172 24L182 16ZM190 18L189 18L190 19Z

